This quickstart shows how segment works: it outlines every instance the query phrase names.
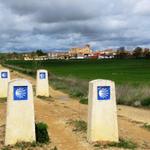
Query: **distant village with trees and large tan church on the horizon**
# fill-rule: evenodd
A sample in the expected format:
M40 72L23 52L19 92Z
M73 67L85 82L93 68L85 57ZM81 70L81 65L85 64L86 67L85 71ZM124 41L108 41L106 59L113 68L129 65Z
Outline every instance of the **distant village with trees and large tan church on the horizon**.
M89 44L79 48L71 48L68 51L48 51L41 49L32 52L9 52L6 59L11 60L49 60L49 59L112 59L112 58L150 58L150 49L136 47L127 50L125 47L117 49L108 48L105 50L92 50Z

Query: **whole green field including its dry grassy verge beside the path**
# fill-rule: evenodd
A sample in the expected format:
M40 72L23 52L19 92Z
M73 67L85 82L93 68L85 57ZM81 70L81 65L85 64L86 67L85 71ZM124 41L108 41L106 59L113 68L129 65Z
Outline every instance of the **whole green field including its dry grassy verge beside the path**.
M55 89L79 98L84 104L88 81L113 80L118 104L150 107L149 59L6 61L5 65L34 76L37 69L47 69Z

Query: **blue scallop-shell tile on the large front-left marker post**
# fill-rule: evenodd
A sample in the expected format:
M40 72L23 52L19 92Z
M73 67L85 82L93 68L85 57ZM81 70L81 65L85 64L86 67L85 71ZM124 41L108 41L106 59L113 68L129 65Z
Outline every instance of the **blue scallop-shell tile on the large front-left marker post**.
M14 100L28 100L28 86L14 86Z

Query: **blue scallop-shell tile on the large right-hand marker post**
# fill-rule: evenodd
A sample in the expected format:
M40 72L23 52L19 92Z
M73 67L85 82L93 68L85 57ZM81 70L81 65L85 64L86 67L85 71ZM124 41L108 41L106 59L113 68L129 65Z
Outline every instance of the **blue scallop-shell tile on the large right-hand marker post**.
M97 87L97 99L98 100L110 100L110 86L98 86Z

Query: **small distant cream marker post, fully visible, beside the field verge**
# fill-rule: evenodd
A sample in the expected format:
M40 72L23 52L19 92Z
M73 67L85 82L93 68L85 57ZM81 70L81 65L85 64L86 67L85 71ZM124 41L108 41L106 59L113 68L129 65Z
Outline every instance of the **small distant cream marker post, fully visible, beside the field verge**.
M49 97L49 83L47 70L37 70L36 96Z

